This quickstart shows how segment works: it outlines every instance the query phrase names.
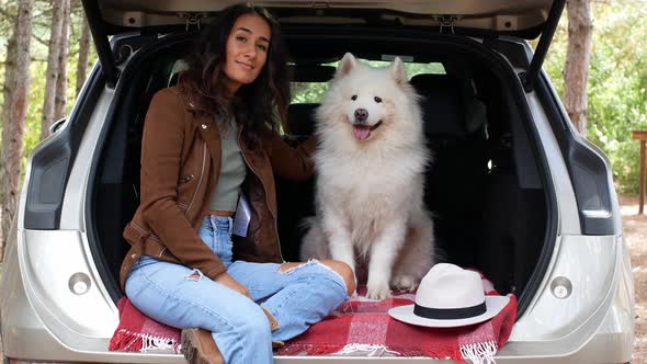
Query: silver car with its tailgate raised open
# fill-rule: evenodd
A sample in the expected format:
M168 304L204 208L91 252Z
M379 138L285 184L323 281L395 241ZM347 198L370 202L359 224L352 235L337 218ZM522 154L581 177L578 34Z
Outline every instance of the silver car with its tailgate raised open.
M0 282L4 363L184 361L107 350L123 295L122 230L138 204L150 98L174 84L201 24L231 2L83 0L100 61L67 121L29 159ZM435 156L424 200L438 244L446 261L519 298L498 363L631 362L634 286L610 164L574 130L542 71L565 0L256 4L276 15L290 49L291 143L311 134L313 110L345 52L406 61ZM526 39L537 37L533 50ZM295 260L311 182L277 180L276 189L283 257Z

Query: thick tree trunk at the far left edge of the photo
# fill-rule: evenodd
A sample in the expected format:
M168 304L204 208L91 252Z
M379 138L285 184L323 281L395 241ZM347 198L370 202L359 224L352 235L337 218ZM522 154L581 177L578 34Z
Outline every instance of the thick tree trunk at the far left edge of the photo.
M12 41L7 47L4 104L2 109L2 156L0 158L0 200L2 235L0 262L4 257L4 241L15 209L23 152L23 135L30 89L30 46L32 36L33 0L20 0Z

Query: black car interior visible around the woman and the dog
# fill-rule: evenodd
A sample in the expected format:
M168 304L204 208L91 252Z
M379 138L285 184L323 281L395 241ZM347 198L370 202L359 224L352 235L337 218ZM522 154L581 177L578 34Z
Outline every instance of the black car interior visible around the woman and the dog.
M299 42L288 43L291 49ZM294 54L290 66L293 80L330 80L334 68L321 65L341 58L345 50L365 59L383 56L372 53L374 46L366 41L347 43L343 52L339 44L330 49L326 45L320 44L321 55ZM398 54L410 46L388 50ZM128 249L122 231L138 205L145 115L152 95L177 82L177 62L188 49L158 45L143 53L137 69L147 72L122 79L127 87L123 86L116 101L120 112L105 132L91 206L97 243L115 282ZM438 259L480 270L501 294L519 292L533 272L547 230L543 186L520 175L520 166L541 166L533 152L518 150L529 148L523 143L527 135L521 137L523 126L513 126L523 125L523 120L509 100L513 92L509 81L478 57L463 54L467 52L464 47L456 49L440 42L432 50L416 55L417 62L442 62L446 73L410 79L422 96L424 133L433 152L425 172L424 202L434 220ZM317 105L290 105L287 143L295 145L313 136ZM297 183L277 178L276 195L283 255L296 261L304 235L300 221L314 214L314 179Z

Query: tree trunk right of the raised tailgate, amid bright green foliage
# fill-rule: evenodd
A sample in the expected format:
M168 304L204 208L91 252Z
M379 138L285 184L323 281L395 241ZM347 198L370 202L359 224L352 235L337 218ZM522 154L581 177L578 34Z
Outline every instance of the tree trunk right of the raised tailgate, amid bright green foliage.
M587 80L593 24L589 0L568 0L568 48L564 70L564 104L571 123L587 135Z

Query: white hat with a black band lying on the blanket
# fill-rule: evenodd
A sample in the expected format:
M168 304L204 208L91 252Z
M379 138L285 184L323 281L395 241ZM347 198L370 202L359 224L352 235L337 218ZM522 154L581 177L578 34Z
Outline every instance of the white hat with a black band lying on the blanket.
M509 300L507 296L486 296L477 272L439 263L420 282L416 304L394 307L388 314L411 325L454 328L489 320Z

